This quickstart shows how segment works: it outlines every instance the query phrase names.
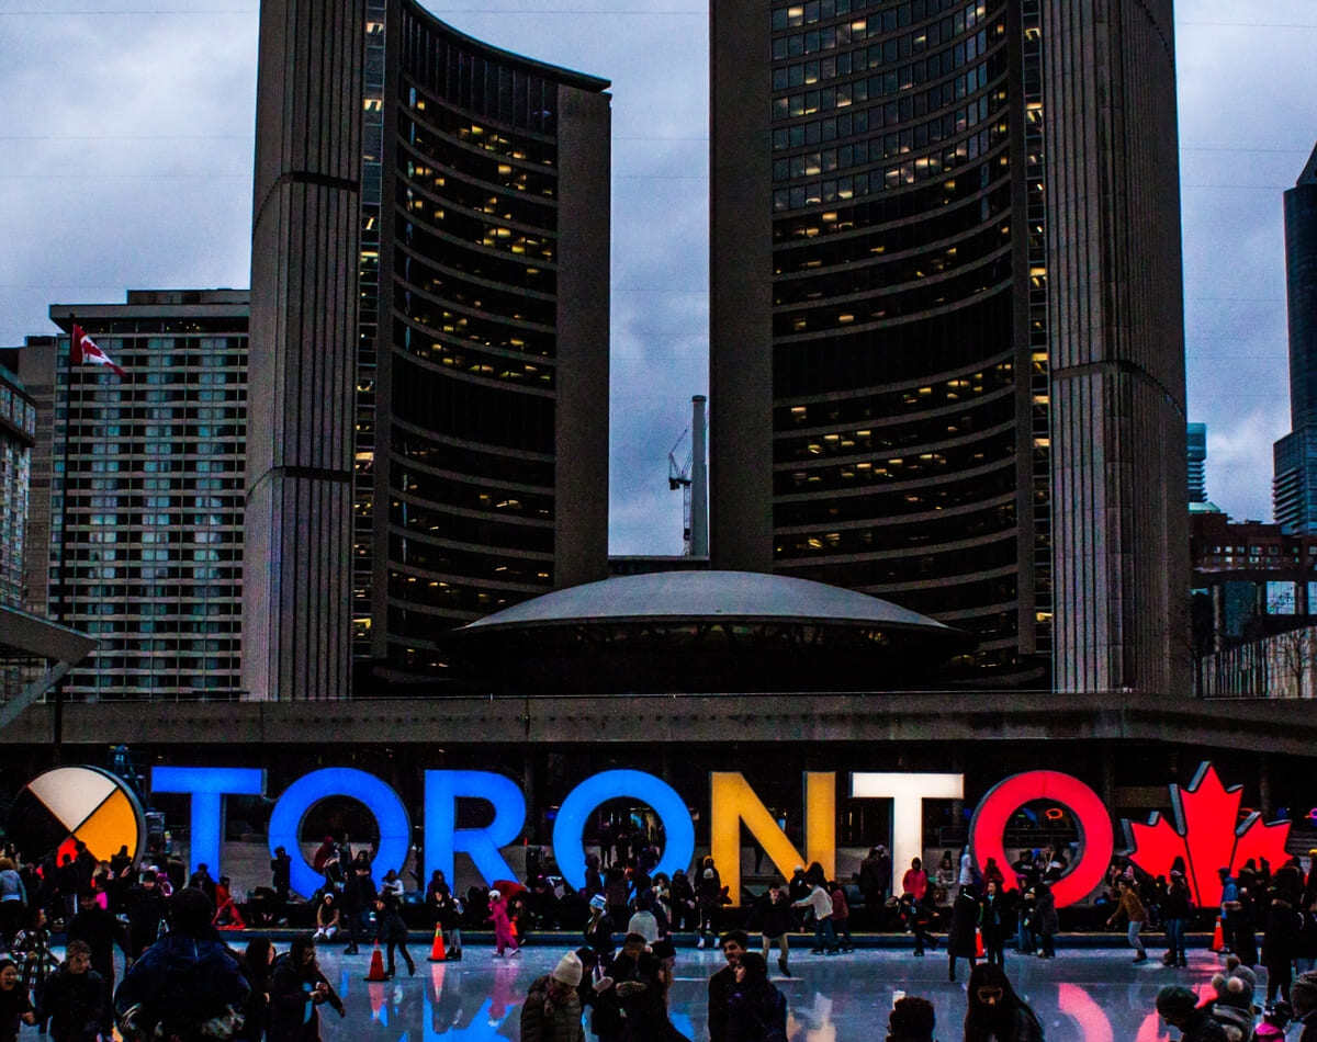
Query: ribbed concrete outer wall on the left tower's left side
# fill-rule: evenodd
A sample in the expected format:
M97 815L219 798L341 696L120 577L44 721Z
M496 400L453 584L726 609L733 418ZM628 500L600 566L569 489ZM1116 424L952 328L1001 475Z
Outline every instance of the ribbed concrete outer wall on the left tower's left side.
M350 685L365 4L261 5L244 688Z

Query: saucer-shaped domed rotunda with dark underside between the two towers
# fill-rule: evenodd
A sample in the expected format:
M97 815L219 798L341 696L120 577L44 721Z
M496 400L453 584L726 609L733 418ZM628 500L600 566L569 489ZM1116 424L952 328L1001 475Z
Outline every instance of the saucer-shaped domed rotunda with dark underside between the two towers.
M691 570L557 589L453 630L445 643L477 683L593 693L927 687L973 642L852 589Z

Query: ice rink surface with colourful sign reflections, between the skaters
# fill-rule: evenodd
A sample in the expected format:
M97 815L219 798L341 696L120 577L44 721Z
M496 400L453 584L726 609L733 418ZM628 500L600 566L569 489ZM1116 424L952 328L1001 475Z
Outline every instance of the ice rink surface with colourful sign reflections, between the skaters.
M494 1042L520 1035L520 1003L537 976L562 953L528 947L498 962L489 950L468 947L461 963L419 963L415 976L366 983L367 960L321 950L320 962L348 1006L344 1020L323 1018L325 1039L379 1042ZM703 1042L705 980L723 964L714 951L682 950L672 988L672 1021ZM1055 960L1010 959L1006 970L1033 1005L1048 1042L1167 1042L1158 1020L1158 988L1177 981L1206 993L1214 960L1195 956L1189 970L1169 971L1155 960L1131 966L1123 950L1079 951ZM844 958L793 958L793 978L774 978L790 1003L792 1042L852 1042L881 1038L893 992L923 996L938 1010L938 1037L957 1038L965 1014L963 984L950 984L942 959L909 953L856 951ZM587 1038L591 1035L587 1034Z

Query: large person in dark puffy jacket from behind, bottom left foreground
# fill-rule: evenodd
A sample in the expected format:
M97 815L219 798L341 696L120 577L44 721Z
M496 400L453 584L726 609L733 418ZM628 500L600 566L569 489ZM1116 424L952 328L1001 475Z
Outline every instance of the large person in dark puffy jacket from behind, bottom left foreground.
M170 904L174 928L151 945L124 975L115 992L115 1012L151 1038L157 1025L165 1038L190 1038L200 1025L241 1010L250 985L238 962L211 925L205 892L180 889ZM190 1034L191 1033L191 1034Z

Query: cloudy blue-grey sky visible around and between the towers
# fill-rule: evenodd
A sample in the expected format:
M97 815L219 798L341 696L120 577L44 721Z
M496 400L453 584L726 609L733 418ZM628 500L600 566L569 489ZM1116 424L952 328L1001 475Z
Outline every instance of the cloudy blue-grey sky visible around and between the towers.
M666 455L707 389L706 7L431 9L612 80L611 550L680 553ZM1179 0L1176 20L1189 418L1210 497L1270 520L1280 195L1317 139L1317 1ZM252 0L0 0L0 346L54 332L51 301L248 284L255 51Z

